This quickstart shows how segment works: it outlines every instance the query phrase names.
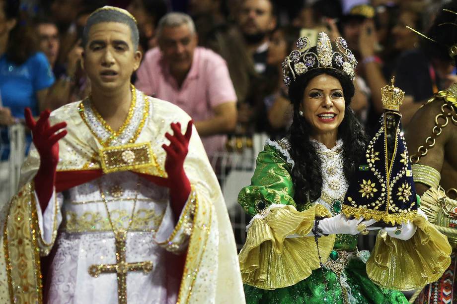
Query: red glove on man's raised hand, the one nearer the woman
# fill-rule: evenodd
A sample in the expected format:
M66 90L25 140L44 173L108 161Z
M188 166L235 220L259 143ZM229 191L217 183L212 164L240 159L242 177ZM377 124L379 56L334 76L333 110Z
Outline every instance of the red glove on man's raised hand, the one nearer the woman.
M184 172L184 159L186 158L190 136L192 135L192 121L187 124L186 133L181 133L181 124L171 123L173 135L168 132L165 137L170 145L162 145L166 152L165 171L168 174L168 187L170 188L171 209L176 217L181 214L182 208L190 195L190 182Z

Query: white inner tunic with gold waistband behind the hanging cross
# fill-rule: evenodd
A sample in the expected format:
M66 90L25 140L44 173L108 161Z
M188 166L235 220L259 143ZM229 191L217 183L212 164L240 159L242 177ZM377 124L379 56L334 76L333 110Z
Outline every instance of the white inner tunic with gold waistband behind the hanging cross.
M114 233L99 185L116 229L128 228L138 189L134 217L127 233L126 259L129 263L152 261L153 268L149 273L128 273L127 302L176 303L180 282L170 282L171 278L167 278L166 251L155 241L158 235L166 239L174 228L168 189L132 172L111 173L57 195L59 234L46 284L48 303L118 303L116 273L101 273L94 278L88 272L94 264L116 263ZM55 208L56 204L50 203L43 217L39 216L46 242L51 241Z

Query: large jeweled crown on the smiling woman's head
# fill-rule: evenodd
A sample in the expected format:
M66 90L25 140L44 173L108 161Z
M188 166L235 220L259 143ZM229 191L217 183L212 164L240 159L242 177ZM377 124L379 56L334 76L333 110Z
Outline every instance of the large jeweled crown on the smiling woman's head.
M282 63L284 83L289 86L297 76L320 67L342 70L351 80L354 80L354 69L357 66L354 54L348 49L348 44L343 38L338 37L335 44L337 51L333 51L327 34L320 32L317 37L316 51L311 52L309 38L301 37L297 41L298 50L292 51Z

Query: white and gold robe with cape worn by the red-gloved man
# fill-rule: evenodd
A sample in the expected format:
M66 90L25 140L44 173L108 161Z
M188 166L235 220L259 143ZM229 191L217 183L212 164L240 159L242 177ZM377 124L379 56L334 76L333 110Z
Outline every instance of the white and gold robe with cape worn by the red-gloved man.
M119 134L113 134L97 117L88 100L65 105L51 114L52 124L65 121L68 130L59 141L59 187L71 182L66 179L71 178L72 171L102 170L105 174L99 178L100 183L93 180L58 195L54 193L42 215L31 182L39 167L39 155L32 147L22 167L21 187L10 202L6 224L0 226L0 243L4 244L0 246L1 303L41 301L39 256L50 251L52 262L44 300L53 304L118 303L117 275L100 273L92 277L88 273L92 265L116 261L114 233L98 185L105 192L115 226L127 228L139 179L137 173L157 178L163 184L166 155L161 146L169 143L164 134L172 132L171 122L180 122L184 130L190 120L168 102L144 96L138 90L134 96L136 104L132 103L133 111L129 111L129 120ZM130 149L138 145L143 152L137 155L136 167L109 167L120 164L110 163L118 156L104 158L105 154L101 154L108 148L121 149L122 160L128 162ZM148 154L141 154L145 151ZM146 168L138 167L146 155L151 162ZM108 168L119 172L109 173ZM244 303L227 207L195 127L184 170L193 191L181 215L176 215L179 218L169 207L168 188L140 179L135 216L127 234L126 261L151 261L153 268L146 274L127 274L127 302ZM187 252L183 275L171 279L177 275L173 270L179 267L173 267L177 265L170 252L179 251Z

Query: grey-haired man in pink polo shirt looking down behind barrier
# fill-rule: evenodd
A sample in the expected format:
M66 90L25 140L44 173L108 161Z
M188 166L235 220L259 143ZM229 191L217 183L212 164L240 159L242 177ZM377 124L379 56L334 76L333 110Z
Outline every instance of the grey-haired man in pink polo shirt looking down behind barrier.
M236 94L227 64L211 50L197 47L190 16L168 13L157 27L158 48L145 54L136 87L174 103L192 117L209 157L224 148L236 125Z

